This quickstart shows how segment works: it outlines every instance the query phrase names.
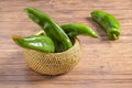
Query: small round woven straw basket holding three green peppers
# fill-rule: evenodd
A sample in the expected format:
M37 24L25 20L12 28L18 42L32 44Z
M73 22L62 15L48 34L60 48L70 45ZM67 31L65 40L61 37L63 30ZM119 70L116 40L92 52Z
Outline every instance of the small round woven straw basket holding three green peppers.
M79 63L81 48L78 38L75 38L74 46L62 53L43 53L23 48L23 54L29 67L35 72L45 75L59 75L69 72Z

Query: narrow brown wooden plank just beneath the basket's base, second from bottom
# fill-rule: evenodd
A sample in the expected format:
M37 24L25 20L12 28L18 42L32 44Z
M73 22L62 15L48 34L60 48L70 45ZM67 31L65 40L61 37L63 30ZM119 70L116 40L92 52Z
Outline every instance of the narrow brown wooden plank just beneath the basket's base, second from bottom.
M87 84L88 81L100 81L100 82L132 82L132 75L92 75L92 74L80 74L80 75L76 75L74 74L70 75L68 74L68 76L61 76L61 77L56 77L56 76L38 76L38 75L14 75L14 76L0 76L0 81L40 81L40 80L44 80L44 79L51 79L50 81L45 81L45 82L51 82L51 84Z

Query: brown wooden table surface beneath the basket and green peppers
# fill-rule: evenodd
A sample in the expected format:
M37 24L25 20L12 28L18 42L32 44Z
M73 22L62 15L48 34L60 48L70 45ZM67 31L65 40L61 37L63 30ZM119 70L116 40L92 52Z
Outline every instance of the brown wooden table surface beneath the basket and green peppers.
M35 7L57 23L78 22L92 28L100 38L78 36L84 51L80 63L61 76L42 76L30 69L21 47L11 36L28 36L41 29L28 19L24 8ZM114 14L122 34L109 41L90 12ZM0 88L132 88L132 0L1 0Z

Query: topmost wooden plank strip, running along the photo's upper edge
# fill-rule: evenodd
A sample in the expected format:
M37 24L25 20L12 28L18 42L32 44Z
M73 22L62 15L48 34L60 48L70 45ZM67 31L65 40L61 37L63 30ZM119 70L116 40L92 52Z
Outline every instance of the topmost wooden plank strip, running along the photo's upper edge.
M110 4L107 4L108 2L110 2ZM99 4L98 4L99 3ZM88 9L92 9L92 10L97 10L97 9L120 9L120 10L131 10L132 2L129 0L123 0L123 1L87 1L87 0L45 0L45 1L12 1L12 4L10 4L10 1L1 1L1 11L18 11L20 10L20 8L25 8L25 7L30 7L30 6L34 6L34 7L38 7L38 8L43 8L43 9L58 9L58 10L88 10ZM2 8L2 6L4 6L4 8ZM65 6L65 7L64 7ZM118 6L118 7L117 7ZM12 8L10 8L12 7ZM63 7L63 8L62 8ZM70 8L72 7L72 8ZM15 9L13 9L15 8Z

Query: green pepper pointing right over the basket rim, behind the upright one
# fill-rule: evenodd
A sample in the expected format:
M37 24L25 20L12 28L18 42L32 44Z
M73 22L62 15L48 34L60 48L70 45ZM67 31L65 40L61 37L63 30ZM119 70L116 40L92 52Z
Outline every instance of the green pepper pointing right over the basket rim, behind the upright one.
M99 37L90 28L80 23L69 23L63 24L61 28L68 34L68 36L77 36L77 35L89 35L91 37Z

